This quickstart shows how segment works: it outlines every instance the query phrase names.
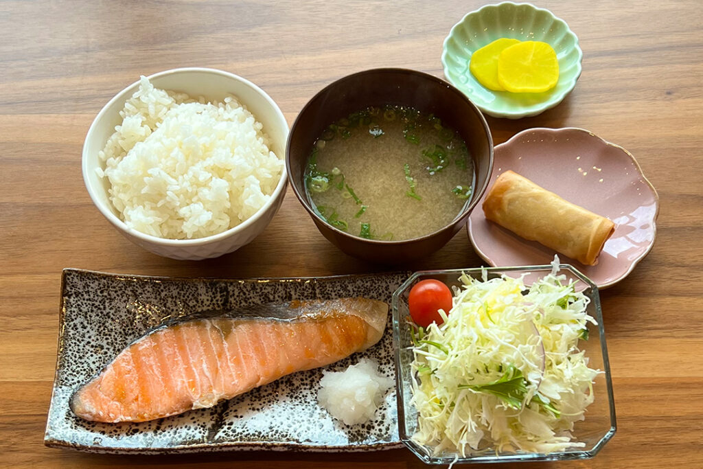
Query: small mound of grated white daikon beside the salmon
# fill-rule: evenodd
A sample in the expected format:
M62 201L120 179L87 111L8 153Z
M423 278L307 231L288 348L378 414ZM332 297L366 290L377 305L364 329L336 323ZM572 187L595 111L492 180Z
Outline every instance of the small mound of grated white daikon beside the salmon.
M356 425L374 418L393 384L378 372L378 363L364 358L345 371L323 371L317 399L334 418Z

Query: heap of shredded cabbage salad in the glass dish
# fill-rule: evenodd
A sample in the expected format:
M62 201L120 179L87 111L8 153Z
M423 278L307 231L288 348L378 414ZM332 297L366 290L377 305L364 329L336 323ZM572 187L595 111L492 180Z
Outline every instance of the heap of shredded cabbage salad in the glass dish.
M578 347L586 322L596 323L589 298L556 268L529 288L485 271L483 281L460 281L444 323L413 330L413 440L462 457L584 446L572 430L600 373Z

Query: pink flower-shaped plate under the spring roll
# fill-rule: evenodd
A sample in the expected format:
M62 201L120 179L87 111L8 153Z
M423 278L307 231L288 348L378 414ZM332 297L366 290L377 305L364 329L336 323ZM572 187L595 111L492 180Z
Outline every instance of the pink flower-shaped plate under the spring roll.
M560 255L600 288L625 278L654 245L659 197L627 150L573 127L527 129L496 146L489 187L504 171L517 172L571 203L614 221L616 229L595 266ZM549 264L555 251L486 220L469 217L474 249L491 266Z

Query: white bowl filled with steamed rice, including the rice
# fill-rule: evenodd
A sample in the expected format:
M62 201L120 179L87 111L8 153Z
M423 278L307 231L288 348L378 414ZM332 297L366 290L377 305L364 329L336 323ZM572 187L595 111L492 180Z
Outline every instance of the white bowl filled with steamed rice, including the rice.
M98 210L136 245L206 259L250 243L287 186L288 122L247 79L179 68L141 77L98 113L82 171Z

